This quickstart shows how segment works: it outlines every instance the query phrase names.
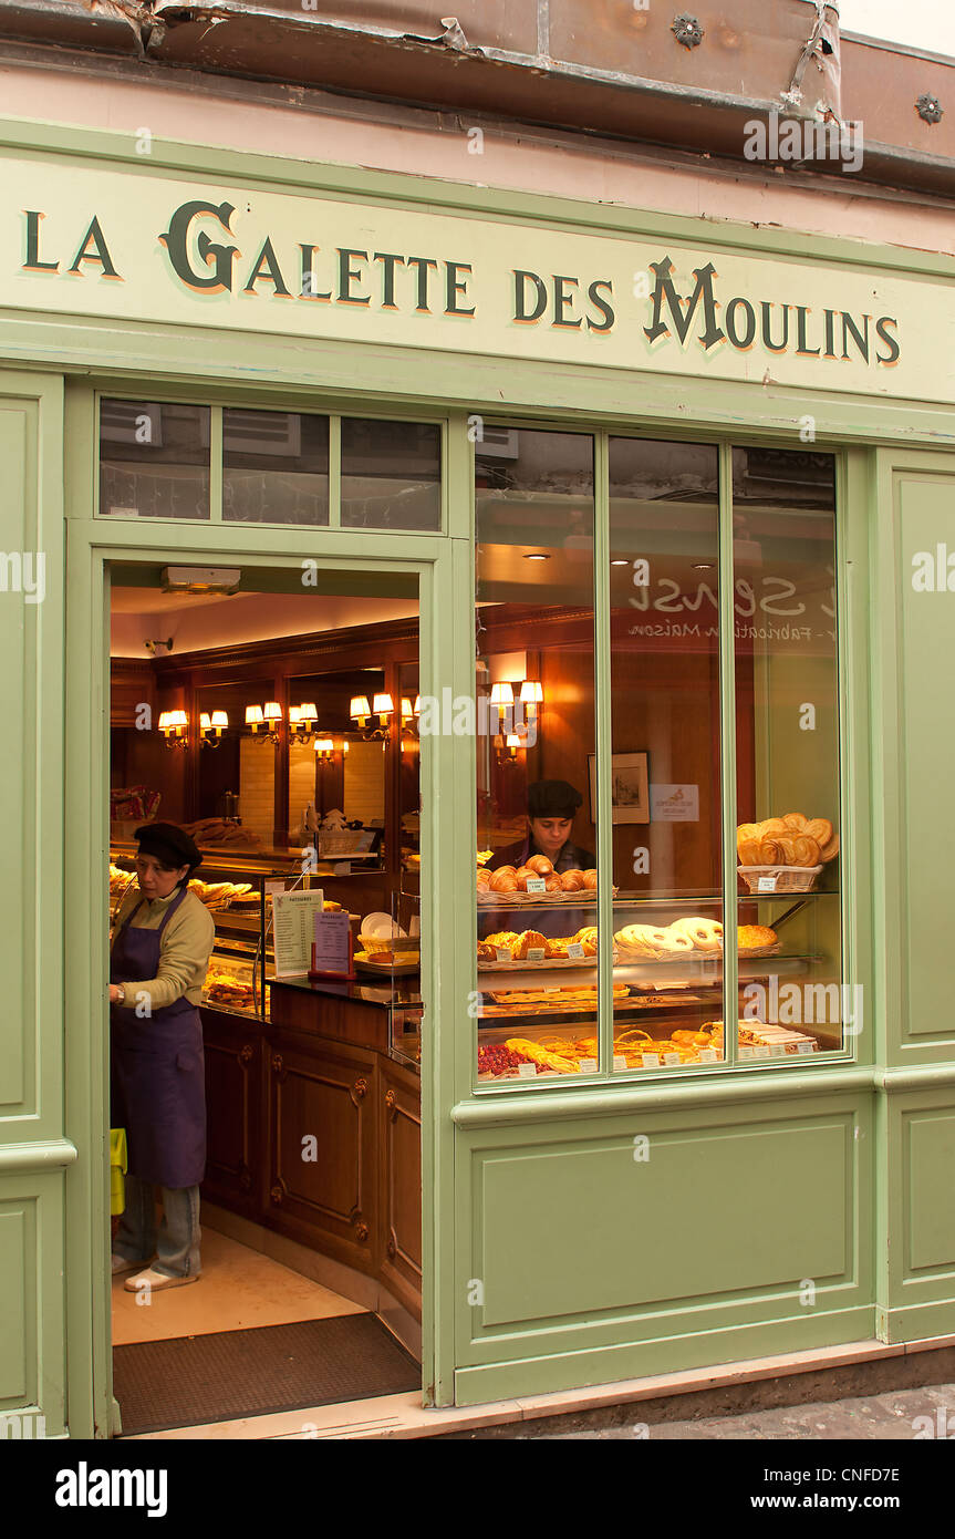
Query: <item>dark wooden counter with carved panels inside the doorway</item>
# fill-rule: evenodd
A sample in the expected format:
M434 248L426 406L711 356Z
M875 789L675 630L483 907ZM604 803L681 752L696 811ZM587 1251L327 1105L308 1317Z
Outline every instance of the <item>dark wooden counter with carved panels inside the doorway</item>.
M378 1277L420 1320L421 1087L389 1053L391 990L269 991L268 1022L201 1008L203 1196Z

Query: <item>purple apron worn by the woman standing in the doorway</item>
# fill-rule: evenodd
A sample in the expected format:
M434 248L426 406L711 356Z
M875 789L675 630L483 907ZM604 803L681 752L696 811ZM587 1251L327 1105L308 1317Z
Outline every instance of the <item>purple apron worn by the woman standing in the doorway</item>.
M155 977L163 930L186 897L183 888L158 930L123 922L109 954L109 982ZM135 1005L135 1000L131 1000ZM111 1127L126 1128L129 1171L158 1187L198 1187L206 1170L206 1079L198 1010L183 996L138 1017L111 1005Z

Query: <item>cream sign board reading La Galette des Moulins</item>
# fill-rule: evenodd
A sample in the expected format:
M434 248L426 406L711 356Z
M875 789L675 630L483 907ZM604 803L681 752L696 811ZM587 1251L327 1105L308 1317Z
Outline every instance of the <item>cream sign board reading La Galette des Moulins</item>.
M441 208L22 160L5 305L955 400L941 279Z

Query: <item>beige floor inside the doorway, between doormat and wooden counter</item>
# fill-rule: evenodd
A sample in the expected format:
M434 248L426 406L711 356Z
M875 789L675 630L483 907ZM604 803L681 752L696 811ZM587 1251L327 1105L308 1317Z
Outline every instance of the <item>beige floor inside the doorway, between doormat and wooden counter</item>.
M364 1313L360 1304L206 1227L201 1264L198 1282L154 1293L149 1304L123 1288L129 1273L114 1277L114 1347Z

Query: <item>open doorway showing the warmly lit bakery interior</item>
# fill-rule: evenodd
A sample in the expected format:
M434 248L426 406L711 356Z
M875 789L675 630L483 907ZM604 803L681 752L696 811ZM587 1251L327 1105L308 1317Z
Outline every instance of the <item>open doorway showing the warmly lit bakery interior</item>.
M417 1390L417 579L318 571L303 593L300 569L171 556L109 585L112 942L161 925L135 836L157 823L198 848L171 897L214 926L180 994L203 1043L198 1280L129 1256L145 1185L161 1250L161 1179L128 1180L138 1216L112 1219L118 1259L148 1264L112 1280L123 1433ZM117 1103L135 1173L143 1102Z

